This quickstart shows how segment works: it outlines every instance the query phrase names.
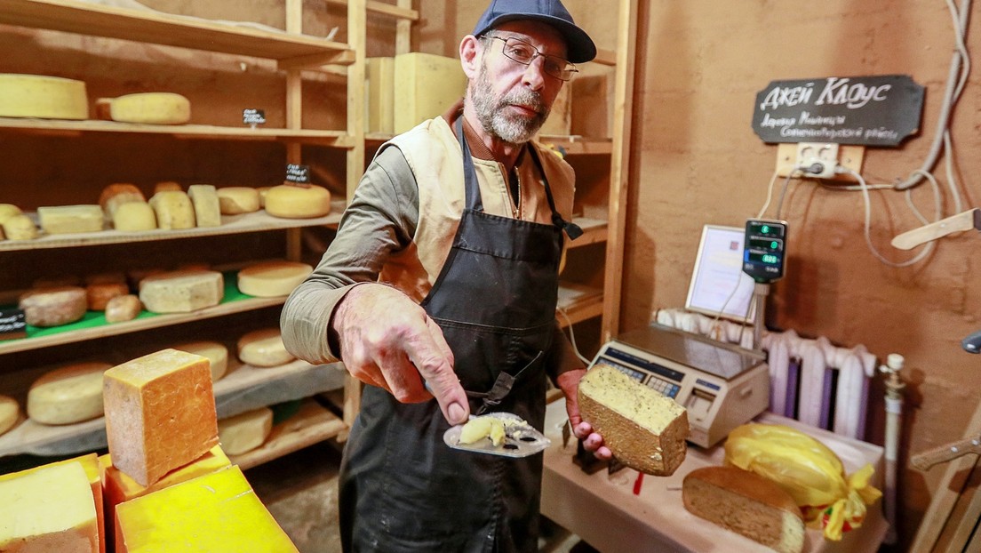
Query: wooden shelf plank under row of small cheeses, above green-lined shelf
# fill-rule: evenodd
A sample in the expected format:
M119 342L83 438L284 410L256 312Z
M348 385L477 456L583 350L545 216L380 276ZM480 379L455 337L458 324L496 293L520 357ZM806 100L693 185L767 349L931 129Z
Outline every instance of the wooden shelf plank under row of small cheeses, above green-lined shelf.
M302 227L335 227L340 222L344 210L344 200L331 202L331 213L324 217L311 219L283 219L274 217L265 210L241 215L222 215L220 227L195 227L193 229L162 230L142 232L122 232L105 230L94 233L66 235L45 235L35 240L0 241L0 252L22 249L80 248L84 246L106 246L111 244L131 244L135 242L157 242L209 236L225 236L243 233L296 229ZM30 213L34 218L36 215Z

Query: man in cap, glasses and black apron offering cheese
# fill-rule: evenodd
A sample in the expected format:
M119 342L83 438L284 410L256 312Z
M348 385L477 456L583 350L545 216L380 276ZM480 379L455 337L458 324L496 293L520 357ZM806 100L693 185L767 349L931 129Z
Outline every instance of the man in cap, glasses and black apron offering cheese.
M286 348L365 387L339 481L346 551L534 551L542 456L442 442L471 413L542 429L546 377L575 435L586 369L555 323L571 167L530 140L595 45L559 0L493 0L460 43L466 96L390 140L287 300ZM434 401L435 398L435 401Z

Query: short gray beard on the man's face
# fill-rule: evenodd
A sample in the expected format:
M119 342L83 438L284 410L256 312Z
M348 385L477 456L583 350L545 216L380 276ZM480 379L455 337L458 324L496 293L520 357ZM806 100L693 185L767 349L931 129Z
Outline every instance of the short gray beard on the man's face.
M486 66L481 67L480 75L473 84L471 100L484 131L511 144L523 144L535 137L550 111L542 101L542 94L527 89L505 94L499 100L494 98ZM512 104L529 106L539 114L532 119L508 117L504 110Z

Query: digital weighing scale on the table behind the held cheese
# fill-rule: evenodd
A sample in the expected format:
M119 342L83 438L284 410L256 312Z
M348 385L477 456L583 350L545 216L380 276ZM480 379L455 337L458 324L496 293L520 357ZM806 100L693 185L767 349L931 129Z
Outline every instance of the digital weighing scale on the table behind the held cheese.
M688 441L711 447L770 403L766 357L651 324L600 348L593 365L615 366L688 410Z

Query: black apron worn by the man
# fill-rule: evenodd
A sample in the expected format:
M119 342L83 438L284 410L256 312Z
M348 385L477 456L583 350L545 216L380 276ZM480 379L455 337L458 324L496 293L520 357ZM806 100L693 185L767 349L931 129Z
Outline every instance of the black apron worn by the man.
M541 430L562 230L571 224L556 213L547 183L551 225L485 213L457 123L466 208L422 305L453 351L471 412L514 413ZM529 152L543 176L535 149ZM436 400L400 404L365 387L339 477L345 551L538 550L542 456L454 450L442 441L448 427Z

